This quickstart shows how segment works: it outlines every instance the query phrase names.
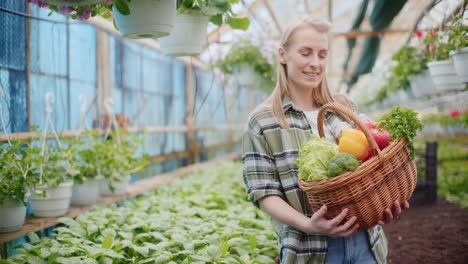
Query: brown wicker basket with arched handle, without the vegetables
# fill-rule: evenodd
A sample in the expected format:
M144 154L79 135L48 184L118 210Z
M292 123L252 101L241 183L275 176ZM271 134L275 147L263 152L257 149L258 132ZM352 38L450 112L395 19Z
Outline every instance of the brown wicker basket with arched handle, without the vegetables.
M299 186L307 193L314 212L327 205L325 218L332 219L348 208L346 219L356 216L359 230L369 230L384 219L385 209L392 208L394 201L402 203L411 197L416 187L416 164L410 159L404 140L392 142L380 151L364 123L350 109L337 103L321 108L317 123L320 137L324 137L323 120L327 110L347 117L362 129L371 146L372 158L355 171L321 181L300 180Z

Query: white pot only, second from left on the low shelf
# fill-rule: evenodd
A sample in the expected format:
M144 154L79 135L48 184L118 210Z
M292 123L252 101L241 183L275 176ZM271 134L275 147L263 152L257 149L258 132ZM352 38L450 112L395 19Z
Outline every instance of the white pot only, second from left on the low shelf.
M40 197L31 194L29 202L34 216L54 217L63 216L70 207L70 198L72 196L73 182L64 182L55 188L48 186L36 187L36 190L44 191L47 196Z

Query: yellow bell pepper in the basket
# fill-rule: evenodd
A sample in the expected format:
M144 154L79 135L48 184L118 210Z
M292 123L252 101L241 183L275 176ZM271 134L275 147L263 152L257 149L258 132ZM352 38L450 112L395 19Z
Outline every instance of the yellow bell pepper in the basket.
M360 161L364 161L369 155L369 142L362 131L346 129L341 133L338 152L353 154Z

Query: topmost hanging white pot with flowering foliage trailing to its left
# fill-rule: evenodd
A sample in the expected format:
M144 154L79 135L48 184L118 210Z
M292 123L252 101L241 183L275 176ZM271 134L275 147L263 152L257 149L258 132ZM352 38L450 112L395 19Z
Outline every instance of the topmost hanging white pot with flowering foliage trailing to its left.
M114 26L126 38L159 38L174 27L176 0L28 0L40 7L86 20L93 16L114 18ZM54 3L66 3L56 5ZM86 4L85 4L86 3Z

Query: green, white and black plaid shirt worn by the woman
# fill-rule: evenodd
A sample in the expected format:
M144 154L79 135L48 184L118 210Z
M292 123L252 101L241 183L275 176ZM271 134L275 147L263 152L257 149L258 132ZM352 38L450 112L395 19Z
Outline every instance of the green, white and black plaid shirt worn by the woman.
M283 109L289 129L282 129L271 105L261 104L250 114L243 135L243 178L249 200L257 207L258 201L268 195L277 195L304 215L313 212L307 195L298 185L297 167L302 142L310 139L311 126L305 114L291 100L283 97ZM355 110L355 109L353 109ZM325 115L324 128L330 129L335 114ZM272 225L279 237L284 263L325 263L327 236L303 233L292 226L272 218ZM372 252L377 263L387 263L387 239L382 227L368 231Z

